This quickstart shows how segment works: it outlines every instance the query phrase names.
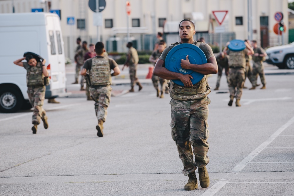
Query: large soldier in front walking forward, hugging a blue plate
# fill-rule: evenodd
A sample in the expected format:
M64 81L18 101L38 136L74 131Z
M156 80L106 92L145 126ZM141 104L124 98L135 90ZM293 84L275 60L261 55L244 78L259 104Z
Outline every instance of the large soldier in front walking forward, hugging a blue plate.
M170 79L170 96L171 96L171 135L176 142L178 153L183 162L183 174L188 175L188 183L184 190L194 190L198 188L198 182L195 170L198 167L199 181L202 188L209 186L209 175L206 165L209 162L207 156L209 144L208 131L208 104L210 99L207 95L211 92L206 75L218 72L216 58L213 55L211 47L200 41L194 41L195 26L191 20L184 19L179 25L180 43L168 46L155 64L154 75ZM188 55L186 60L181 60L183 69L191 69L205 76L201 81L193 84L190 74L181 74L169 71L165 68L165 60L168 52L175 45L190 43L198 46L205 54L207 63L198 65L191 64ZM177 85L172 80L181 80L184 86ZM193 151L192 147L193 146ZM193 153L195 160L193 160Z

